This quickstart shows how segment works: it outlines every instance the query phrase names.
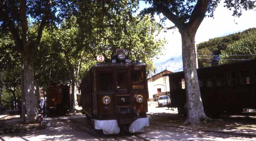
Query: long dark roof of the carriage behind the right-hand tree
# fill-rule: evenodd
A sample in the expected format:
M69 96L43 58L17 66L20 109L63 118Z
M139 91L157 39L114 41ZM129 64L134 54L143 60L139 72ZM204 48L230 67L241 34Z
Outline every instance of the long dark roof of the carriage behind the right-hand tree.
M219 67L229 67L229 66L242 65L242 64L247 64L247 63L256 63L256 59L240 61L240 62L234 62L234 63L228 63L228 64L223 64L223 65L210 66L210 67L202 67L202 68L198 68L197 72L200 72L200 71L210 71L212 69L216 69L216 68L219 68ZM170 74L164 74L163 76L174 76L174 75L180 75L182 73L183 73L183 71L175 72L175 73L170 73Z

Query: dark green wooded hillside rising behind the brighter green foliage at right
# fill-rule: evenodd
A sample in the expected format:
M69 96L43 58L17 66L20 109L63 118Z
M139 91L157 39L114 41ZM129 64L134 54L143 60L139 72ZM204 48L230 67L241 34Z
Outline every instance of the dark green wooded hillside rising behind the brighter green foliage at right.
M256 28L249 28L243 32L238 32L230 34L224 37L218 37L209 39L197 44L198 55L219 55L222 50L225 50L229 44L234 43L235 41L241 40L249 36L251 32L256 32ZM202 57L202 58L214 58L214 57ZM215 57L216 59L217 57ZM198 59L199 67L207 67L217 65L218 61L212 61L208 59Z

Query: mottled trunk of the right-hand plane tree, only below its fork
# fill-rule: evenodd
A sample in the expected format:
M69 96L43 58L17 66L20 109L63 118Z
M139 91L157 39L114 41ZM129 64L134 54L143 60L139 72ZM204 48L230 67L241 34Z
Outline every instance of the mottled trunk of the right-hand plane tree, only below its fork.
M189 29L179 30L182 38L182 60L186 87L185 124L197 124L208 119L203 110L195 60L195 35Z

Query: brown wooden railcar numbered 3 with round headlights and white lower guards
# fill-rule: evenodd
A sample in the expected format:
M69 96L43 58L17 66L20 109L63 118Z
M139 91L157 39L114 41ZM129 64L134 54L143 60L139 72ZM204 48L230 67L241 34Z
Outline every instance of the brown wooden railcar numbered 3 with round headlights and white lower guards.
M98 61L80 85L83 113L104 134L142 132L149 126L146 64L130 62L124 49L117 49L109 62L102 55Z

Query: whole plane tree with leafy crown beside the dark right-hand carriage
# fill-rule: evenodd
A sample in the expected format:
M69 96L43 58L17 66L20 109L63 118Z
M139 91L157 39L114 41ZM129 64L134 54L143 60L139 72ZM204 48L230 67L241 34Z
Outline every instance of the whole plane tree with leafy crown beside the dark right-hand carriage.
M195 35L204 17L213 17L220 0L144 0L151 4L142 13L162 14L162 21L168 19L178 28L182 39L182 60L186 85L185 124L197 124L209 119L203 110L195 63ZM255 1L224 0L224 6L233 11L233 16L241 16L242 9L255 8ZM209 27L210 28L210 27Z

